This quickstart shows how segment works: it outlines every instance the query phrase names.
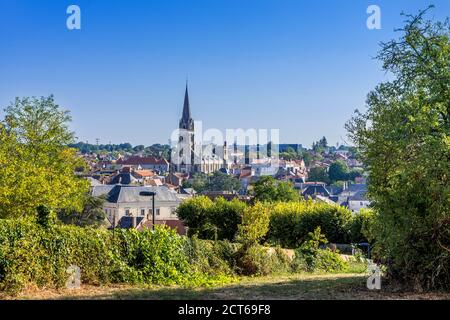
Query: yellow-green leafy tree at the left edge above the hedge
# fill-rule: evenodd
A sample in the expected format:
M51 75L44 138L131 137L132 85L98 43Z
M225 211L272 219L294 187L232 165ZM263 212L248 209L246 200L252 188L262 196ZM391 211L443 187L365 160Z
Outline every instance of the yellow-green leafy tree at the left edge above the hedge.
M83 160L68 129L70 115L53 96L16 98L0 121L0 217L34 214L38 205L53 210L81 209L89 183L74 172Z

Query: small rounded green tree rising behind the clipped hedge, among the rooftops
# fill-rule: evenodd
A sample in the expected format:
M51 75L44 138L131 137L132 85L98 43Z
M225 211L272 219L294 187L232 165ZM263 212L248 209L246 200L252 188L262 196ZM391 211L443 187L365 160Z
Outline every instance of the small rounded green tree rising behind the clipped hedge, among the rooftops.
M300 195L291 183L277 181L271 176L261 177L253 187L257 201L297 201Z

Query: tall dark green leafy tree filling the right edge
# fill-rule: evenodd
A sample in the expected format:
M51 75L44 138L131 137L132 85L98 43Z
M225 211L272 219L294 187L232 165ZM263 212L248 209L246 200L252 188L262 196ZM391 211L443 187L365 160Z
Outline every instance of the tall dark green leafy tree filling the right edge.
M450 288L450 24L406 16L378 58L393 80L347 123L378 212L375 249L388 276Z

